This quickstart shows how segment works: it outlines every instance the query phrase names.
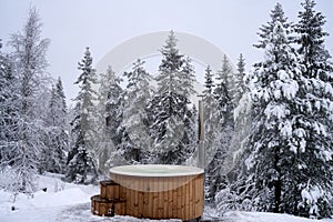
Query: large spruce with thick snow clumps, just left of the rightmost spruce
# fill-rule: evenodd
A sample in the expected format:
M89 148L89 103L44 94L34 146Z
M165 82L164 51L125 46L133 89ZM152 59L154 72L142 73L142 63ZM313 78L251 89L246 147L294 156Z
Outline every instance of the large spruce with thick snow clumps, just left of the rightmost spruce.
M297 123L301 67L282 6L278 3L270 16L259 33L264 60L251 75L253 122L245 163L255 183L258 210L296 213L304 140Z

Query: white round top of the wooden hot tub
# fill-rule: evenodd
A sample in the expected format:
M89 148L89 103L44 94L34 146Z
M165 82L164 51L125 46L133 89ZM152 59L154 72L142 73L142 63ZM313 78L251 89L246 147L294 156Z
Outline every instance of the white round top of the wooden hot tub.
M110 169L110 173L112 174L144 178L199 175L203 172L203 169L196 167L171 164L133 164L119 165Z

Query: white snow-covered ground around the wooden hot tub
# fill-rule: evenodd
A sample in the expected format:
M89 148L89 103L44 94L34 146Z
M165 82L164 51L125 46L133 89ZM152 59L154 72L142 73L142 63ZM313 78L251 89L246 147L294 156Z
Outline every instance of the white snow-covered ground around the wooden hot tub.
M0 176L1 180L3 178ZM77 185L64 183L59 175L47 174L38 178L39 191L33 196L18 194L0 189L0 221L1 222L137 222L153 221L139 220L131 216L101 218L90 212L90 196L99 193L99 186ZM47 191L42 191L42 189ZM16 201L14 201L16 200ZM164 220L165 221L165 220ZM168 220L179 221L179 220ZM303 218L286 214L259 212L228 212L220 216L213 209L205 209L203 221L225 222L311 222ZM333 222L333 219L322 220ZM161 222L161 221L159 221Z

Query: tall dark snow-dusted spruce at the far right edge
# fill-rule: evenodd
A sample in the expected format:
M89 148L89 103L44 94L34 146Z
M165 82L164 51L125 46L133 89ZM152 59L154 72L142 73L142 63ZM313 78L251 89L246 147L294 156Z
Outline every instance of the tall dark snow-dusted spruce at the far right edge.
M302 3L299 12L296 43L302 64L302 84L295 119L297 130L295 145L300 165L296 172L296 188L302 195L292 199L294 208L306 216L331 216L333 181L333 67L331 56L325 49L323 30L325 17L316 12L313 0ZM331 200L329 200L331 196ZM302 199L301 199L302 198Z

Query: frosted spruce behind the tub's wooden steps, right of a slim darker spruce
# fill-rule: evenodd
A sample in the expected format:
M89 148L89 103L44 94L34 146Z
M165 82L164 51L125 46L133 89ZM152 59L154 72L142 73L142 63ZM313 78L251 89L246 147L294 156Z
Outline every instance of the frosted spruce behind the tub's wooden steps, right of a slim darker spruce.
M99 88L99 123L98 123L98 169L108 173L117 161L110 159L117 145L121 142L122 131L120 123L123 112L123 90L120 87L121 78L109 65L105 73L100 74ZM123 159L123 157L120 157ZM124 162L122 162L124 163Z

